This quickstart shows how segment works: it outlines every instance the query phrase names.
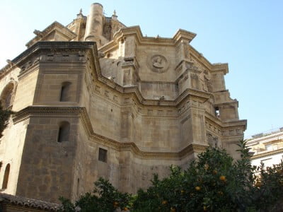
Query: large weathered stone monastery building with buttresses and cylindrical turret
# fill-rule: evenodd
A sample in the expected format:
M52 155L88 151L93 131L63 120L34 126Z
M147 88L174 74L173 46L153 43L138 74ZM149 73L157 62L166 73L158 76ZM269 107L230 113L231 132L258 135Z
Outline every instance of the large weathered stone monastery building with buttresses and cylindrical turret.
M91 191L98 177L121 191L187 163L207 146L236 157L246 120L211 64L178 30L146 37L92 4L54 22L0 71L1 104L16 112L0 144L0 187L57 202Z

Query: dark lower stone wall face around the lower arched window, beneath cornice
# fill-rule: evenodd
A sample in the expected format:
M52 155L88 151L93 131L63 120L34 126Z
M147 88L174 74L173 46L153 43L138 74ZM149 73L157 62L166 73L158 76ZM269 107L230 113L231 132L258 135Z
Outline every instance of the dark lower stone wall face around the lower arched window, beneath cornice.
M68 141L58 142L59 124L69 122ZM75 115L34 116L28 124L16 195L58 202L71 197L72 168L79 118Z

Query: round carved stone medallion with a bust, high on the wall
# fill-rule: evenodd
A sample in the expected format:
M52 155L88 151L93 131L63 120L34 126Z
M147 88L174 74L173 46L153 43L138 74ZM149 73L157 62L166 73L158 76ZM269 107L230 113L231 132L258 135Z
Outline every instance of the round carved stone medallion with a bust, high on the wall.
M147 65L149 66L149 69L151 71L154 71L156 73L163 73L166 72L169 66L169 63L161 54L154 54L153 56L149 56L147 59Z

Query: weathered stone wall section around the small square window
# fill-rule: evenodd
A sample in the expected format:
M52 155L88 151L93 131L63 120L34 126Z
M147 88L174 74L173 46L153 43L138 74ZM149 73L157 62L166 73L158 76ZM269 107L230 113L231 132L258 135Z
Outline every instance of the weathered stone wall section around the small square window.
M99 148L108 151L106 163L98 160ZM91 192L94 187L93 183L99 177L110 179L110 182L115 185L119 184L118 157L119 152L105 146L101 141L87 136L86 129L84 129L83 124L80 124L74 161L72 199L76 199L86 192Z

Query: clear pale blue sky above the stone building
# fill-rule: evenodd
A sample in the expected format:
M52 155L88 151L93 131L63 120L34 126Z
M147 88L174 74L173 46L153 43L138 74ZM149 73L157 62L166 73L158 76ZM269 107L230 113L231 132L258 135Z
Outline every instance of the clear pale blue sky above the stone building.
M54 20L67 25L93 2L105 15L114 9L127 26L147 36L172 37L182 28L197 33L191 45L212 63L228 62L226 88L248 119L246 137L283 126L283 1L0 1L0 66L23 52Z

